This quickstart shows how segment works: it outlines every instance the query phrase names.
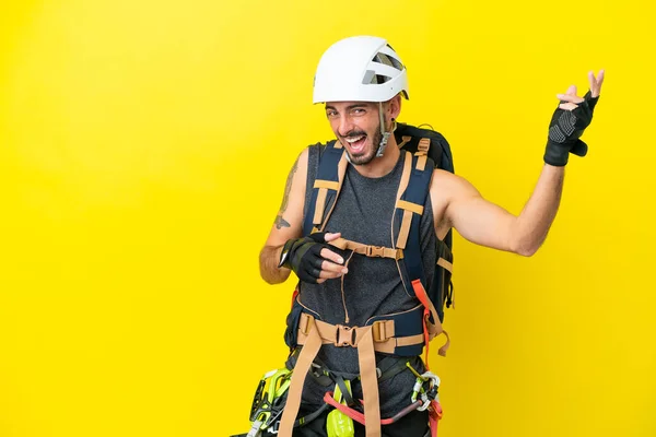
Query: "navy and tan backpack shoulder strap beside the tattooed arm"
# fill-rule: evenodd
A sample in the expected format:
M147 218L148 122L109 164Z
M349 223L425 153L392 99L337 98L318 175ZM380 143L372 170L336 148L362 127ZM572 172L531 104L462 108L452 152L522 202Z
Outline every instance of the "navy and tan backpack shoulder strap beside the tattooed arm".
M335 140L328 142L324 153L319 156L317 176L303 220L303 235L324 231L341 190L347 165L347 154L341 143Z

